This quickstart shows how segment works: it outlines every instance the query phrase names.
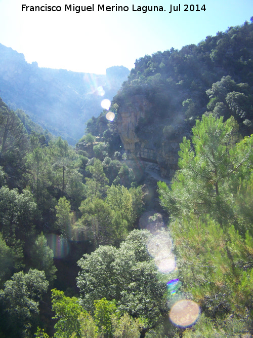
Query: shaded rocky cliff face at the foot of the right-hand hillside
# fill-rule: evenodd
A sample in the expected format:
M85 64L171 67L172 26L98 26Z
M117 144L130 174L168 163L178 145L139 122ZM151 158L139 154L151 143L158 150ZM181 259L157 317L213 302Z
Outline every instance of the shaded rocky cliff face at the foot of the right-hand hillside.
M149 123L144 123L149 112ZM154 115L150 119L152 104L145 94L135 95L131 103L123 103L118 109L117 128L124 149L129 159L142 161L147 170L158 166L158 173L162 178L171 179L178 169L179 143L186 135L186 126L181 121L174 124L174 134L168 139L163 135L163 128L170 124L173 118L161 121Z

